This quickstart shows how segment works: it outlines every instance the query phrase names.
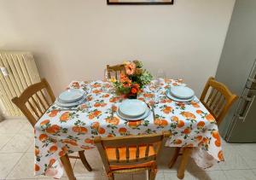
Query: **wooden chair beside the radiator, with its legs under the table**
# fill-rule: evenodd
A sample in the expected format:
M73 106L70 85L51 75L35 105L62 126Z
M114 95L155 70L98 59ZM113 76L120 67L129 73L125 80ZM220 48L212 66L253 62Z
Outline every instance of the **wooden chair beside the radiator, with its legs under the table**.
M38 119L55 102L55 96L48 82L43 78L41 82L27 87L19 97L13 98L12 102L20 108L20 111L34 127ZM79 151L79 157L68 156L66 154L61 157L61 162L64 165L65 171L67 171L69 179L75 179L69 158L81 159L85 168L91 171L91 167L84 156L84 151Z

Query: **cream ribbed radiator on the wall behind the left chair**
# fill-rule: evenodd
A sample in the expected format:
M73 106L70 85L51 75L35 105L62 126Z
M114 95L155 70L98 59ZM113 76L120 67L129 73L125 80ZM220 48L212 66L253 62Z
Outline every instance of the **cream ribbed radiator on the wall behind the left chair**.
M29 85L38 83L40 76L29 52L0 51L0 107L4 117L23 116L11 99Z

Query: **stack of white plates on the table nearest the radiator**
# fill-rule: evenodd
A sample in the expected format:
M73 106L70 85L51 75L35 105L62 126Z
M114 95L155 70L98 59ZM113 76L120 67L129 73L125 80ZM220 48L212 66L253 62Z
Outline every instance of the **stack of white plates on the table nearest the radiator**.
M61 93L56 104L59 107L74 107L85 101L84 90L70 89Z

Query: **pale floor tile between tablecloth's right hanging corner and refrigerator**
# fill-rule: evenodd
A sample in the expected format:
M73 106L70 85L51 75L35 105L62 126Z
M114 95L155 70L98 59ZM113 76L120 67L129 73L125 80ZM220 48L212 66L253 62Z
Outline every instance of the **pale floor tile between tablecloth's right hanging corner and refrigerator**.
M249 169L247 162L239 154L236 145L227 144L223 147L224 162L219 163L222 170Z

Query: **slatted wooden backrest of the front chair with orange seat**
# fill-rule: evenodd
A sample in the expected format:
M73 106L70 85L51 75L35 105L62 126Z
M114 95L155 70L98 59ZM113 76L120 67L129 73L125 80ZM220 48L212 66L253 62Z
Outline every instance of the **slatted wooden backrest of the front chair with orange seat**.
M109 165L138 165L147 163L152 160L157 160L162 144L166 142L165 137L171 136L169 131L162 132L160 134L139 135L139 136L119 136L119 137L95 137L95 144L101 154L103 164L106 171L110 170ZM140 154L140 148L144 148L144 154ZM115 149L115 159L108 160L106 153L107 148ZM125 160L119 159L119 149L125 149ZM135 150L136 158L130 157L131 148L132 152ZM149 154L149 148L154 148L155 154ZM124 153L124 152L122 152ZM143 157L140 157L140 156Z

